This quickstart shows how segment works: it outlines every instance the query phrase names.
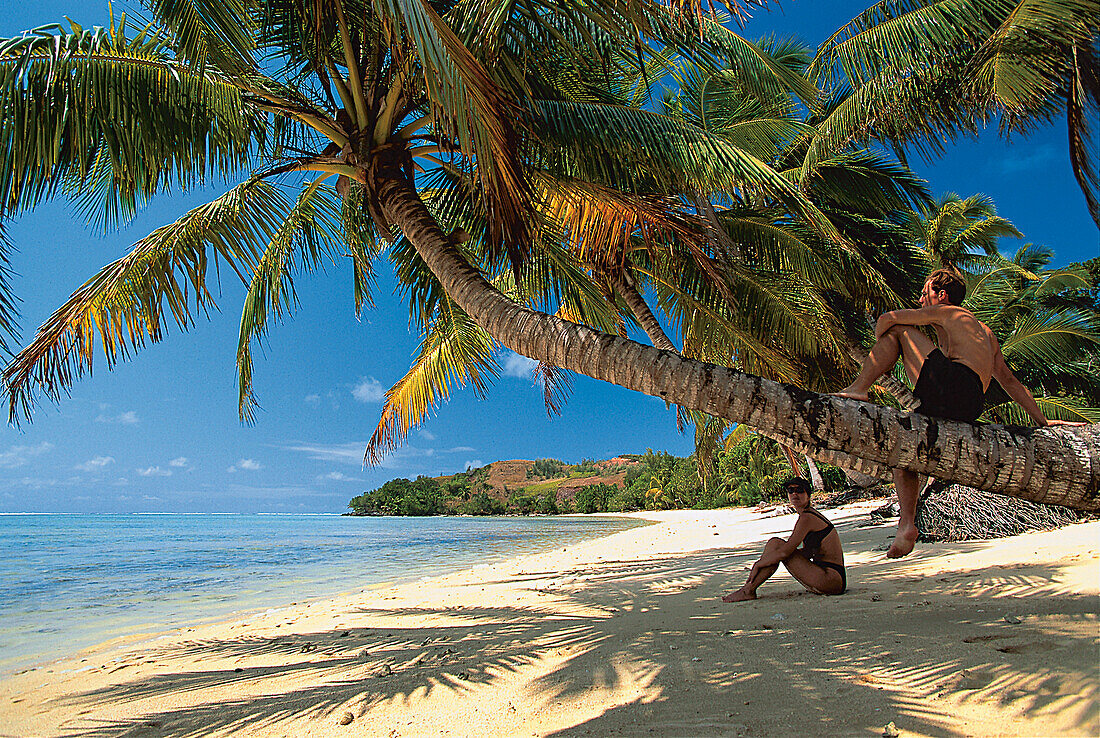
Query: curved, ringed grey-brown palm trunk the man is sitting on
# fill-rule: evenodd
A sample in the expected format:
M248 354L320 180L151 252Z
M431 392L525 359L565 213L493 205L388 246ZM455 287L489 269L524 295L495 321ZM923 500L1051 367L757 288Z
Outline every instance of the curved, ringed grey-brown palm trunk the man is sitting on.
M818 395L683 359L509 300L466 263L404 177L380 167L372 183L447 294L507 348L536 361L745 422L805 455L872 476L892 467L1001 494L1100 508L1100 426L974 426Z

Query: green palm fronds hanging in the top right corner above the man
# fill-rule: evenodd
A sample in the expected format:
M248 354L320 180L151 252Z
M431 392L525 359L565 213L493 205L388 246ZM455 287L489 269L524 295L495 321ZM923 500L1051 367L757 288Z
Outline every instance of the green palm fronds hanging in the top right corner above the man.
M1069 158L1100 227L1100 2L882 0L817 52L812 76L850 92L822 126L810 161L847 142L914 146L998 120L1002 135L1066 118Z

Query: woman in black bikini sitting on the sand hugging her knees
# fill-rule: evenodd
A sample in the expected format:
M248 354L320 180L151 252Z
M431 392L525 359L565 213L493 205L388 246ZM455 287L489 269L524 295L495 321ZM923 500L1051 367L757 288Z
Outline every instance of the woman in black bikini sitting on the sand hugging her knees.
M824 515L810 507L810 483L794 476L783 483L783 491L791 507L799 514L791 537L768 541L763 555L752 564L748 581L740 590L723 597L722 602L756 599L757 587L776 573L780 563L802 586L816 594L842 595L847 588L840 536ZM802 543L801 549L799 543Z

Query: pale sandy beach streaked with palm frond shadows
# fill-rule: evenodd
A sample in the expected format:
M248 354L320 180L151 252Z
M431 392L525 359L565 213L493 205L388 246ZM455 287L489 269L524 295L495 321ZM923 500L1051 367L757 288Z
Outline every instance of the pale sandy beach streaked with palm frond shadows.
M1100 522L893 562L870 507L828 513L843 597L781 572L719 602L791 517L637 514L656 525L7 678L0 736L1100 733Z

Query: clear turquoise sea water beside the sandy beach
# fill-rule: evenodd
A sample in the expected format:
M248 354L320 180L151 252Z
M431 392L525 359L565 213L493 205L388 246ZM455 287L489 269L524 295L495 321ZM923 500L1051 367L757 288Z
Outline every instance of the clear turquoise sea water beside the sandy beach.
M549 551L619 518L0 515L0 673L128 636Z

